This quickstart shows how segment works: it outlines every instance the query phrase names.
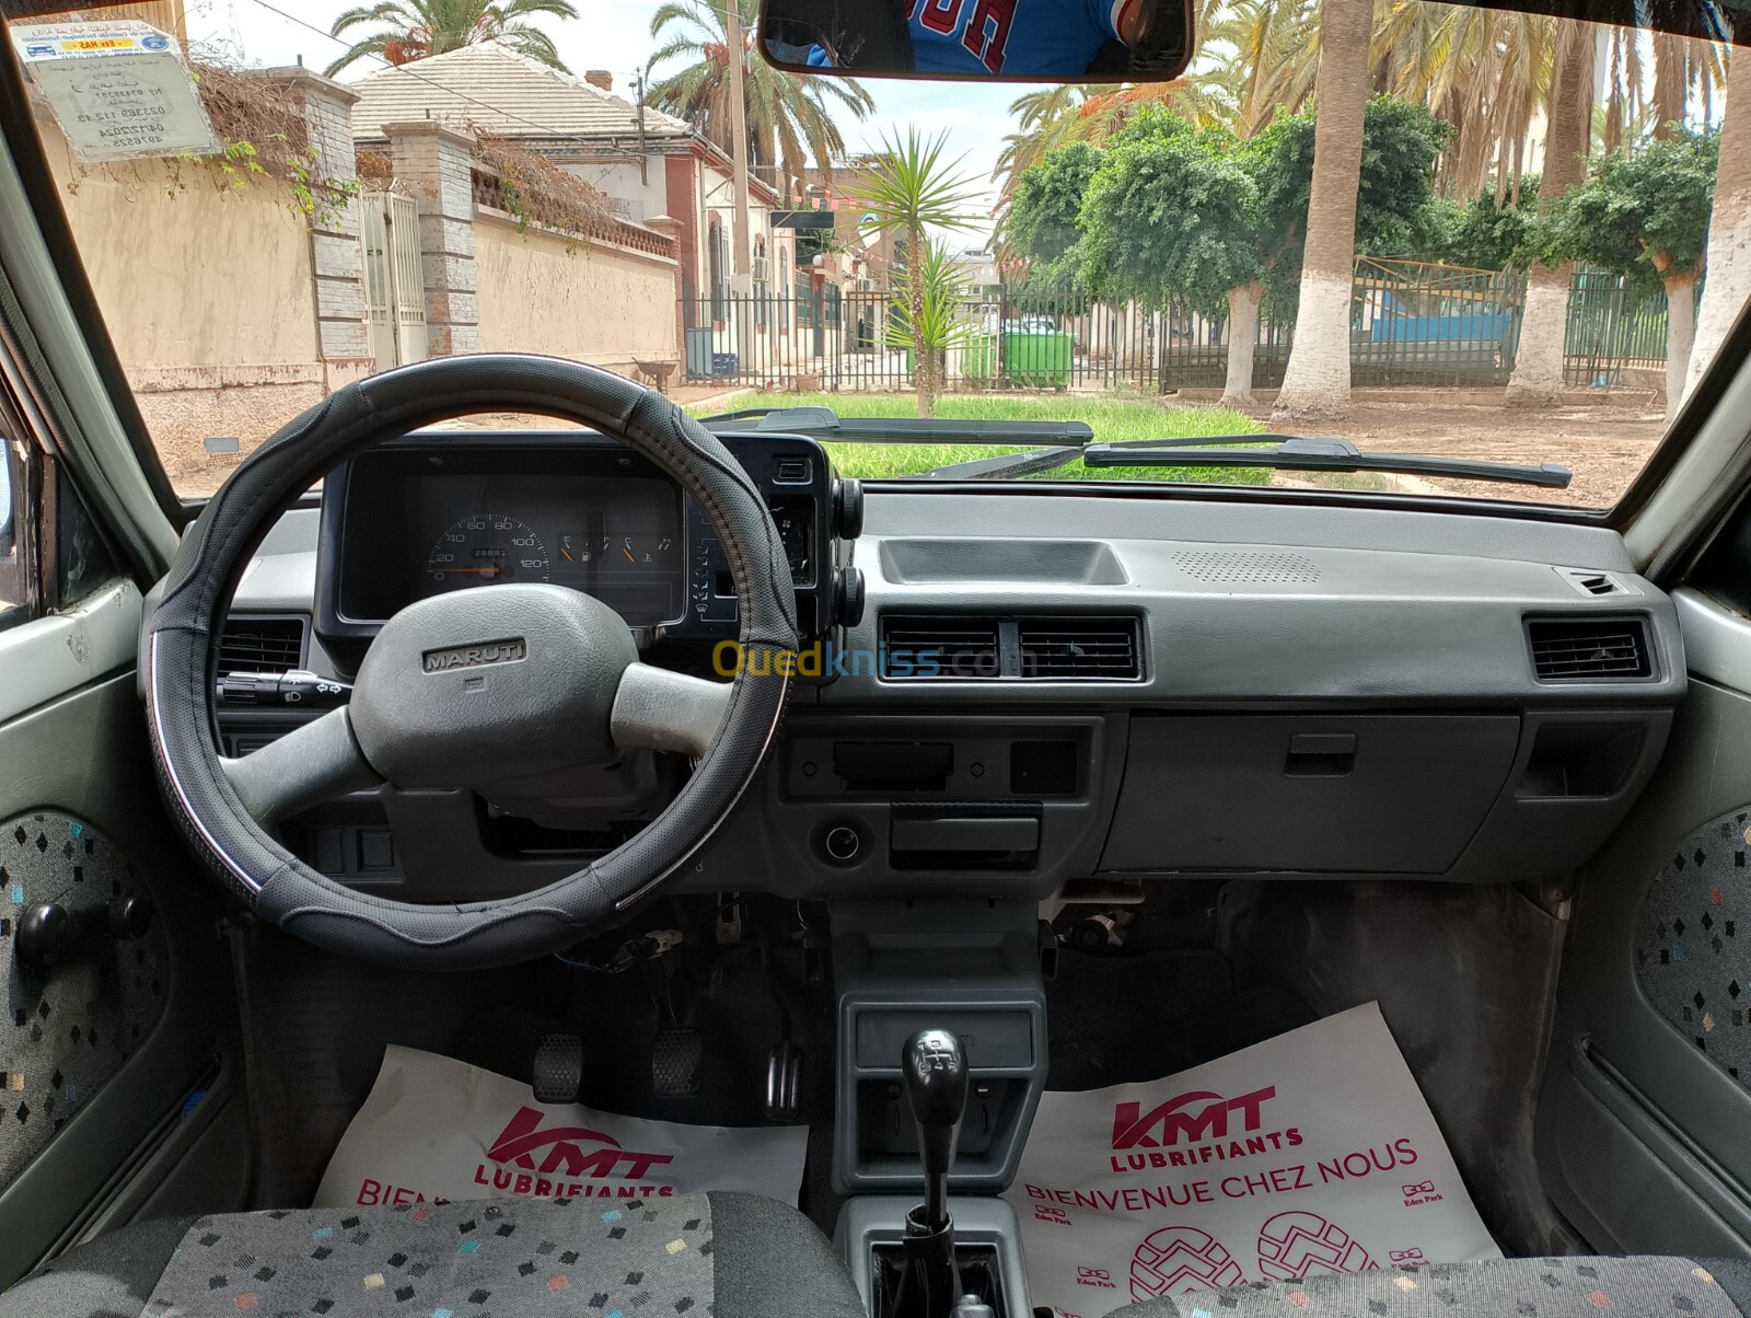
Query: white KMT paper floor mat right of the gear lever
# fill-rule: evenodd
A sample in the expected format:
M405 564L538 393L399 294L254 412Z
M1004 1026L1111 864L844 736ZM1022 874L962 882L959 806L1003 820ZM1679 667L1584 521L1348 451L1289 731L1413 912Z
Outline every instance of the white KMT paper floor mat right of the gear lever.
M1147 1085L1045 1094L1007 1197L1059 1318L1501 1258L1375 1003Z

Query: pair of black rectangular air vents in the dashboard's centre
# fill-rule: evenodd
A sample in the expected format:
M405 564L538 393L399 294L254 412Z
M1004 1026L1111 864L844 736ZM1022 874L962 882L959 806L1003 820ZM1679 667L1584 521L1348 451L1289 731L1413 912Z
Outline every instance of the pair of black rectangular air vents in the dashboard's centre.
M890 615L881 675L904 682L1136 682L1135 617Z

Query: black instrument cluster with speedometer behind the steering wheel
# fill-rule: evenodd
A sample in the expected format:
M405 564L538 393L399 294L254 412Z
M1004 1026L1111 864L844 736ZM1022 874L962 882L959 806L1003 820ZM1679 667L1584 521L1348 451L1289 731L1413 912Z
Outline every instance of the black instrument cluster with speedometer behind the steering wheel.
M861 492L793 435L723 435L784 543L807 638L861 612L844 542ZM418 433L361 454L322 487L317 634L364 643L401 608L499 582L595 596L641 643L734 638L739 601L704 512L644 457L590 431Z

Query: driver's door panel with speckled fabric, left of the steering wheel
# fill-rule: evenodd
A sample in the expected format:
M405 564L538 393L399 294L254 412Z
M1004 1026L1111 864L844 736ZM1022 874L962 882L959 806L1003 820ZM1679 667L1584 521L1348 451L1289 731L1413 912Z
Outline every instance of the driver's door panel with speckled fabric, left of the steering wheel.
M114 615L98 624L100 633L109 626L128 631L137 626L133 610L114 606ZM51 666L49 652L68 650L67 638L77 634L61 624L39 619L7 633L0 671L11 673L14 664L21 664L18 671L30 670L39 645L44 666ZM88 659L117 643L102 636L89 641ZM7 1003L0 1018L0 1071L7 1074L7 1088L0 1092L0 1122L11 1136L0 1143L5 1155L0 1222L7 1223L0 1232L0 1285L5 1285L75 1237L110 1197L124 1194L130 1169L154 1150L193 1144L226 1097L212 1076L235 1029L217 941L219 908L158 801L131 666L112 668L110 677L0 722L0 815L7 820L0 861L35 857L16 873L9 864L0 889L0 918L9 920L9 934L0 938L7 957ZM19 831L25 843L16 838ZM63 892L75 887L72 871L86 859L86 840L95 843L89 859L102 857L102 882L121 882L152 901L152 931L138 943L96 945L81 953L81 964L46 981L21 974L16 918L39 897L53 896L56 885ZM72 855L65 854L68 848ZM84 883L95 880L98 875L91 871L82 876ZM79 1001L82 994L63 987L74 983L93 985L96 992ZM42 1036L33 1039L37 1027ZM112 1050L116 1038L123 1046ZM93 1066L93 1055L109 1064ZM95 1092L68 1095L67 1085L86 1076L96 1083ZM208 1090L208 1097L191 1104L196 1090ZM28 1108L23 1118L21 1108ZM26 1141L16 1134L40 1130L42 1120L51 1123L47 1136ZM240 1204L247 1167L236 1171L233 1197Z

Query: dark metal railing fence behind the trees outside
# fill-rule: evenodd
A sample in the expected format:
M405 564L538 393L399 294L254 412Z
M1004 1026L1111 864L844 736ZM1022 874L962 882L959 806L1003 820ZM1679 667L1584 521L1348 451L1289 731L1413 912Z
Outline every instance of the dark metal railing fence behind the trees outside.
M905 391L912 352L898 333L904 291L755 286L681 298L692 382L784 389ZM1501 386L1515 366L1525 275L1361 258L1350 301L1357 386ZM1227 321L1182 307L1101 303L1075 289L970 289L951 389L1220 389ZM1294 337L1287 315L1259 317L1252 384L1282 384ZM1565 375L1614 386L1625 366L1665 361L1665 298L1625 279L1578 270L1569 296Z

